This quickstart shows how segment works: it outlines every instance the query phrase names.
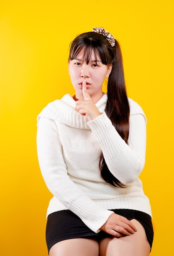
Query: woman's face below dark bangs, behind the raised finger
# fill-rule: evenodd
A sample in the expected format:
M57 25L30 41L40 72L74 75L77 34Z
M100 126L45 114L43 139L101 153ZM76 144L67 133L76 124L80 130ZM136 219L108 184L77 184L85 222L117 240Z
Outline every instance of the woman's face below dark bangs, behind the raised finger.
M107 66L101 63L99 55L96 56L94 52L91 54L89 63L84 60L84 51L68 65L69 74L73 87L75 88L75 95L77 99L84 99L82 94L82 83L86 80L87 92L91 99L96 103L102 97L102 84L104 79L109 76L112 65Z

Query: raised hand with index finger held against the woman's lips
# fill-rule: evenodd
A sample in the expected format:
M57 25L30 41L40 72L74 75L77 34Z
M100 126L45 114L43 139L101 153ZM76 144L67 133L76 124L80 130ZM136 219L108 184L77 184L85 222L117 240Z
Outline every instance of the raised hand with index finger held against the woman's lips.
M84 96L84 100L76 101L75 110L77 110L83 116L86 115L88 119L91 121L96 117L99 117L101 113L99 112L98 108L95 106L95 103L93 102L93 100L87 92L86 81L83 81L82 93Z

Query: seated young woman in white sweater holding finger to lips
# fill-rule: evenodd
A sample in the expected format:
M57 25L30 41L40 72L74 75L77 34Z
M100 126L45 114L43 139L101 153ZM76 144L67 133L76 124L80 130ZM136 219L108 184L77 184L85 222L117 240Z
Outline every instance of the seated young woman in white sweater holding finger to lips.
M146 117L127 97L117 40L103 28L77 36L68 68L75 95L49 103L37 117L38 159L54 195L48 253L148 256L152 214L139 180Z

